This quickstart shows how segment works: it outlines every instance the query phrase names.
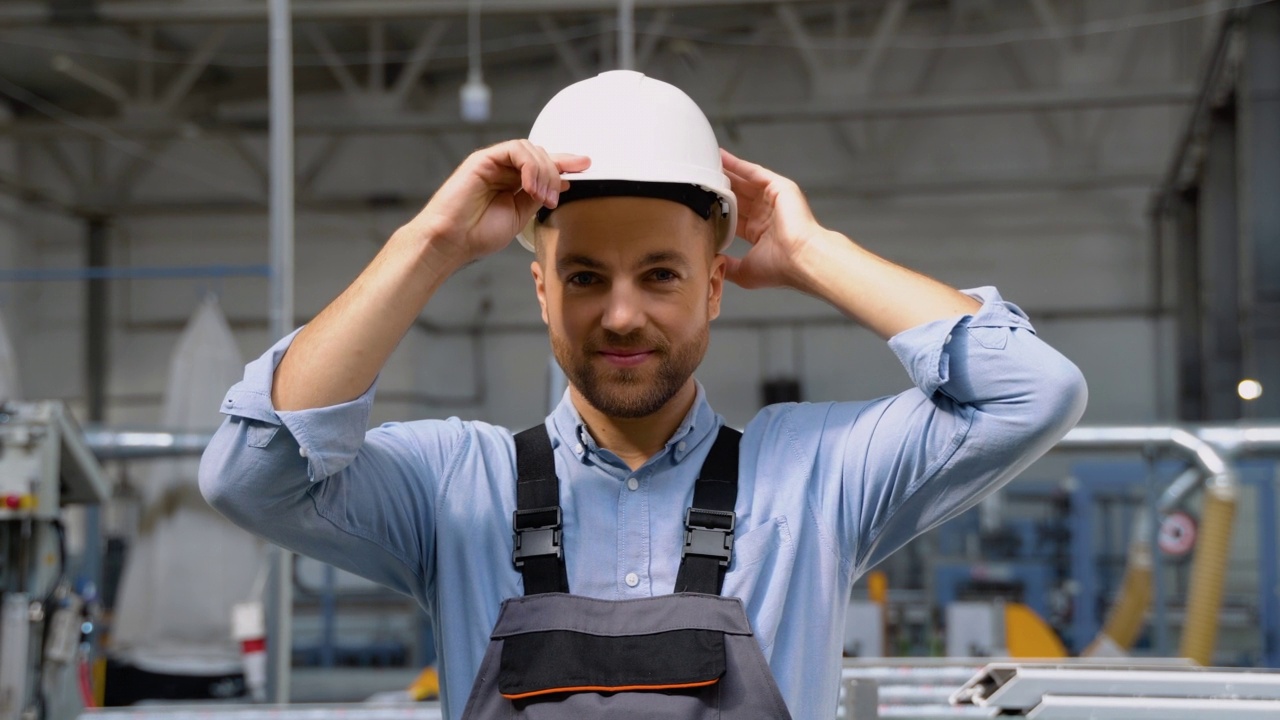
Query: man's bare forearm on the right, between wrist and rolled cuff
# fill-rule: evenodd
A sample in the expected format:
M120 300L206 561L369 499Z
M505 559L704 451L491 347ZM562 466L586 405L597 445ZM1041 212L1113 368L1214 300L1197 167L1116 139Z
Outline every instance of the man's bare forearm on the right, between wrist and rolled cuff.
M832 231L805 243L796 275L797 290L826 300L886 340L924 323L973 314L982 306Z

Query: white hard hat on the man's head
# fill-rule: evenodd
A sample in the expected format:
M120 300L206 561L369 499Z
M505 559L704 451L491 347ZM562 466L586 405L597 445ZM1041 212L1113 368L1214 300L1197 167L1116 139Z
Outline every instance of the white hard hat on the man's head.
M529 140L553 155L570 152L591 159L585 172L562 176L571 183L614 183L613 190L604 186L607 190L593 192L594 196L667 197L694 208L699 202L678 191L673 195L669 186L696 186L708 197L714 193L709 211L727 220L721 225L724 233L718 250L733 241L737 199L721 165L716 132L698 104L673 85L631 70L612 70L576 82L543 108ZM644 190L645 183L663 183L668 190L650 192ZM689 190L696 193L694 187ZM568 192L573 192L572 186ZM545 210L541 215L545 217ZM530 220L518 236L529 250L534 249L536 222L538 218Z

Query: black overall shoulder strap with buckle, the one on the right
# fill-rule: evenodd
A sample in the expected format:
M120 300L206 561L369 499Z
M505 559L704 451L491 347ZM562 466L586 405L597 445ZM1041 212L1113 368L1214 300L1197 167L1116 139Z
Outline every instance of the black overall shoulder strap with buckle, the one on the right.
M742 433L724 425L716 436L694 483L694 503L685 511L685 548L676 592L719 594L733 560L737 502L737 452Z

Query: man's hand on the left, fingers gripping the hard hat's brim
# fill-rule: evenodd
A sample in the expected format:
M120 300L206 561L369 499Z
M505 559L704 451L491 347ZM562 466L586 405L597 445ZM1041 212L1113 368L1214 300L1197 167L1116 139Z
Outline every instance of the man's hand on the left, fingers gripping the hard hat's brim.
M410 223L461 263L511 242L539 208L556 208L568 188L561 173L590 167L582 155L550 155L527 140L472 152Z

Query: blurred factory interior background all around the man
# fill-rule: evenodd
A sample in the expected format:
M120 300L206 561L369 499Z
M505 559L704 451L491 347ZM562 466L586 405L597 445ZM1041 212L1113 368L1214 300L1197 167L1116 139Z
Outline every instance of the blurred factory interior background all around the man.
M200 459L454 168L616 69L1087 379L856 579L838 717L1280 717L1280 1L5 0L0 720L458 716L422 606L239 529ZM370 427L547 416L530 258L439 290ZM710 337L737 428L911 384L791 290L726 282Z

